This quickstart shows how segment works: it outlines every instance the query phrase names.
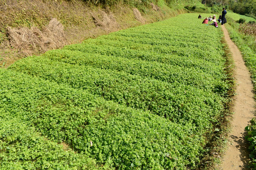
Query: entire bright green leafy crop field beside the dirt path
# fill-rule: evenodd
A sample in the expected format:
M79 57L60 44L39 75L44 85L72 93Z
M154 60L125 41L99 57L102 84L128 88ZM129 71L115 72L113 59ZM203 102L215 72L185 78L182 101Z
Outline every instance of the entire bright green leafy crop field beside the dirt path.
M198 168L230 85L223 33L197 16L121 30L1 69L0 166Z

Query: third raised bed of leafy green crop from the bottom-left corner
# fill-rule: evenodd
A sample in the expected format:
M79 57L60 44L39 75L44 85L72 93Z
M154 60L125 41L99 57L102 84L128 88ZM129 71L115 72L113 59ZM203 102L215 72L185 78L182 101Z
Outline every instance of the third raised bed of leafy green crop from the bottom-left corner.
M209 127L209 121L221 111L223 102L216 93L183 85L178 78L169 84L111 69L70 65L42 57L21 60L10 68L83 89L128 107L150 110L173 122L193 122L200 129ZM202 118L195 120L195 117Z

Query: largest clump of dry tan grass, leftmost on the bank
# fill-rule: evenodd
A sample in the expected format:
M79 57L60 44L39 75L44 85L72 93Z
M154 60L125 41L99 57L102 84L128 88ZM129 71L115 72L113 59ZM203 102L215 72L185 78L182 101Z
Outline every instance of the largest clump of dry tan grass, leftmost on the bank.
M63 47L66 44L64 27L53 18L49 24L43 27L42 31L37 27L8 27L9 44L18 51L29 56L35 51L45 52Z

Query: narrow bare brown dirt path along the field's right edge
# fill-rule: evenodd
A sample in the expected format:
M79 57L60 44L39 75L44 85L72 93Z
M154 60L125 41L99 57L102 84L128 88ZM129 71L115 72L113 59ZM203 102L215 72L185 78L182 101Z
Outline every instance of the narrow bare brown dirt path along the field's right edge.
M228 149L223 156L220 170L247 170L249 153L247 151L247 142L244 139L245 127L254 117L254 93L250 74L242 59L238 47L231 41L225 26L222 26L225 40L229 46L233 59L235 61L235 81L237 84L234 98L234 115L231 122L231 133L229 134Z

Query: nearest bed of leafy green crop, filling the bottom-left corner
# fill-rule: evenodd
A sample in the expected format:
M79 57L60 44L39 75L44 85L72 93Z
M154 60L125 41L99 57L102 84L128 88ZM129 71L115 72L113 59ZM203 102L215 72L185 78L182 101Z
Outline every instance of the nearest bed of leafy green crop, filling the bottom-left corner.
M95 170L95 160L87 155L64 151L63 146L46 140L34 127L0 110L1 169Z

